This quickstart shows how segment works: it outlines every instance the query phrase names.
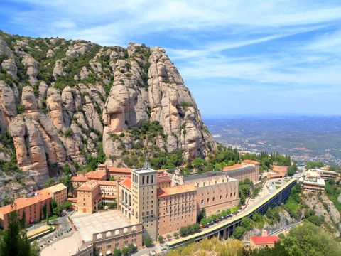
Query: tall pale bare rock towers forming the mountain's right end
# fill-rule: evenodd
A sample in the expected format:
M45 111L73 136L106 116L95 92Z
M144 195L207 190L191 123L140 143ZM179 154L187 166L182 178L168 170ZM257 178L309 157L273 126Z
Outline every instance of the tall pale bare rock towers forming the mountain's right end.
M129 45L129 55L136 53L136 47L141 45ZM146 120L157 121L167 135L168 152L181 149L185 158L190 159L207 155L215 141L202 123L195 100L178 70L160 47L151 48L148 63L148 93L137 86L144 73L140 63L136 60L115 63L114 83L103 111L104 134L121 132ZM104 138L103 144L109 154L112 142Z

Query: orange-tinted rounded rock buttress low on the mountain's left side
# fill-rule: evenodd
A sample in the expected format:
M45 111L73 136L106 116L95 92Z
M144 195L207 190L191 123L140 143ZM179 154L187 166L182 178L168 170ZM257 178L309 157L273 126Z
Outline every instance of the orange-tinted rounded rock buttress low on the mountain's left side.
M23 171L36 171L36 181L41 185L48 178L47 160L50 164L63 164L66 154L52 122L36 109L37 101L32 87L23 87L21 102L26 113L17 115L9 130L16 148L18 166Z

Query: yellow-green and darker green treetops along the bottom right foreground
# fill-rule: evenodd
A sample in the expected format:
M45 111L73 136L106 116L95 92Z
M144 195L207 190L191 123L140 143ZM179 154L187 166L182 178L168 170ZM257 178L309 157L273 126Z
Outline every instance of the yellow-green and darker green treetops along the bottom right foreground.
M249 223L245 226L249 227ZM281 235L281 240L276 242L274 248L264 247L251 250L244 246L239 240L221 242L217 238L200 242L193 242L190 245L179 247L168 253L168 256L177 255L244 255L244 256L338 256L341 254L340 242L323 232L312 223L294 227L288 235Z

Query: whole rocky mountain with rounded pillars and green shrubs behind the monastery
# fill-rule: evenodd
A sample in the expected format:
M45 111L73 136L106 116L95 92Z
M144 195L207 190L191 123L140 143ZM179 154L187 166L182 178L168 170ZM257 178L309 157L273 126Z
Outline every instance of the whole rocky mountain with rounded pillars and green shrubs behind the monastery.
M65 164L134 167L145 156L167 156L168 162L154 163L161 167L216 147L161 47L1 32L0 67L2 171L12 171L16 161L41 185ZM4 143L6 136L13 142Z

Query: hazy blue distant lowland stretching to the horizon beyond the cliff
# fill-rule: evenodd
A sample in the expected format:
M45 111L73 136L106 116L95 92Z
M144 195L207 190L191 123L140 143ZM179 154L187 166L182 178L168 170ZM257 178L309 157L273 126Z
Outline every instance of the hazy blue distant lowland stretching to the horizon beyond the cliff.
M205 123L217 142L225 145L341 165L340 116L230 117Z

